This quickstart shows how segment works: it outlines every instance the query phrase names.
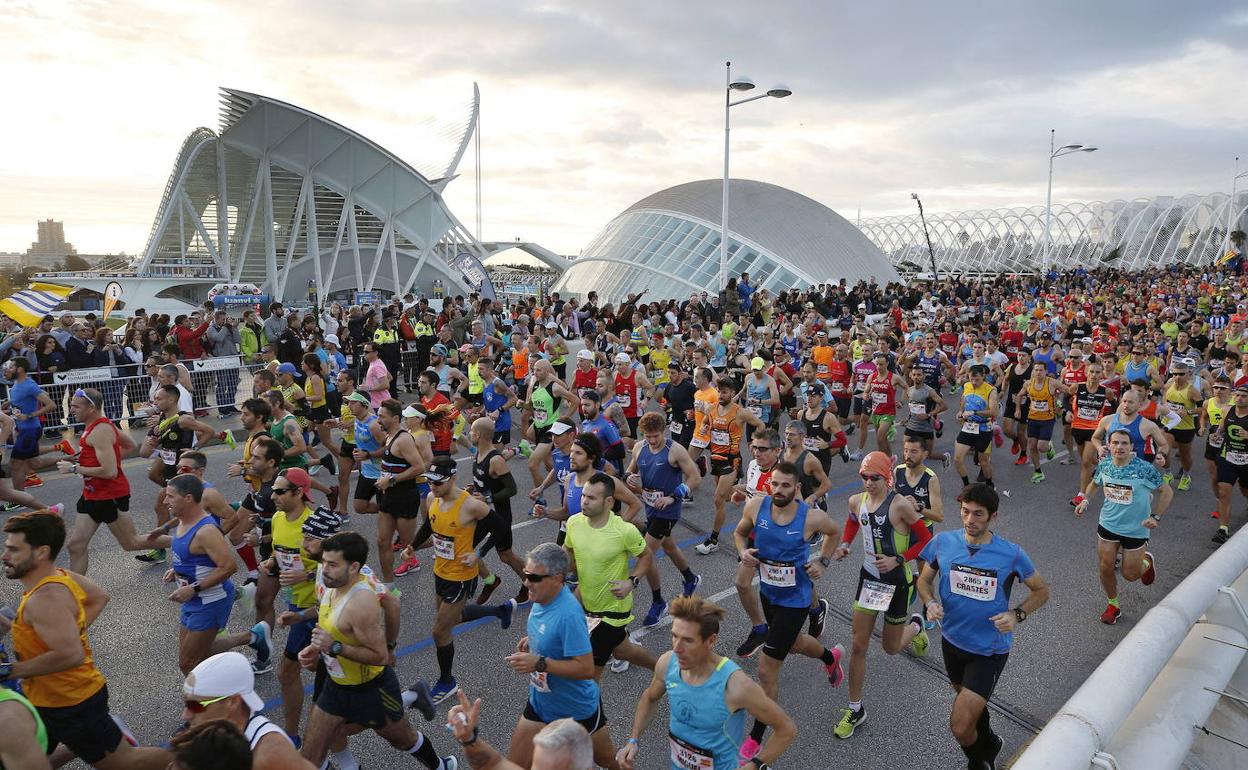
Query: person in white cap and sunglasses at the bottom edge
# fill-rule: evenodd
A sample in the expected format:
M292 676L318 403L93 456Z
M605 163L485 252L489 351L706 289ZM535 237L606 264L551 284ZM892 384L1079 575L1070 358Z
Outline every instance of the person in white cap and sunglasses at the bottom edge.
M238 653L217 653L186 675L182 720L190 726L225 720L242 731L253 770L316 770L281 728L263 714L256 675Z

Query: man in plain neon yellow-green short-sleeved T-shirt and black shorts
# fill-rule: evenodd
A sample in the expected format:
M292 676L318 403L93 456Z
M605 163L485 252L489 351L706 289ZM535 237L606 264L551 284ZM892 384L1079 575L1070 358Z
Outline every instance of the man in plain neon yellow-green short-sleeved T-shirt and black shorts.
M595 680L602 679L603 666L613 658L625 666L635 663L654 670L654 655L628 638L633 590L641 575L650 573L654 553L636 527L613 513L620 488L624 485L602 472L580 485L580 513L568 518L563 543L575 565L577 593L589 618ZM636 559L631 569L629 559Z

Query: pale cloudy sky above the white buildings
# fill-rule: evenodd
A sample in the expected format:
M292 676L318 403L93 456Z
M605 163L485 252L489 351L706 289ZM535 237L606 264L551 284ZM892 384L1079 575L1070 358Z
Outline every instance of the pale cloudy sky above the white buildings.
M140 251L218 86L421 165L477 82L483 240L574 255L723 173L729 60L792 90L731 110L733 176L850 221L912 213L912 191L929 212L1042 205L1050 129L1099 147L1056 161L1055 201L1229 191L1246 35L1223 1L0 0L0 252L47 217L80 253ZM469 151L446 191L469 228L475 170Z

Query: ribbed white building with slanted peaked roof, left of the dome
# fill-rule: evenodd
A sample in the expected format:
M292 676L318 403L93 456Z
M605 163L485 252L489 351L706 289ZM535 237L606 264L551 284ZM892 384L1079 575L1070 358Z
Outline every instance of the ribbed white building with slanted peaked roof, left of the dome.
M454 261L489 251L442 192L479 105L473 86L444 141L431 142L442 146L409 163L310 110L222 89L220 131L196 129L183 141L132 272L59 280L99 292L127 278L125 305L149 309L200 302L218 282L255 283L283 301L307 301L310 290L318 300L352 290L431 293L434 278L466 292Z

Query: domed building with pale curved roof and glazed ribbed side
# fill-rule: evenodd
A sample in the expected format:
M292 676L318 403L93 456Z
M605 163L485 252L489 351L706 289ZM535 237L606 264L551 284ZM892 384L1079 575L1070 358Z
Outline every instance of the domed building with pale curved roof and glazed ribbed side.
M552 291L620 301L719 288L721 180L655 192L629 206L573 261ZM804 195L753 180L729 187L728 275L773 292L847 280L899 280L857 227Z

